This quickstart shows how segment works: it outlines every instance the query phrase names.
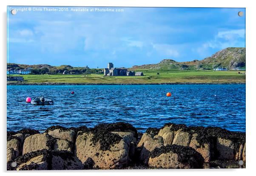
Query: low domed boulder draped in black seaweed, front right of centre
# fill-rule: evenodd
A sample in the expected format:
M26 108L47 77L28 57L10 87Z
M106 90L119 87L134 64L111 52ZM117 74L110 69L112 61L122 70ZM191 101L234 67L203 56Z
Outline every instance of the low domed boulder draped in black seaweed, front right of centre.
M174 144L155 148L148 165L166 169L201 169L204 168L204 159L193 148Z

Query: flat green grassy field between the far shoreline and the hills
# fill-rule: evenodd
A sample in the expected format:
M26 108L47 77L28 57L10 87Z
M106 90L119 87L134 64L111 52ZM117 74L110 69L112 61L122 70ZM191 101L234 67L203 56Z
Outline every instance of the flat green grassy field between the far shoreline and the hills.
M147 71L144 76L104 76L103 74L20 75L22 83L137 84L137 83L245 83L245 71ZM17 76L17 75L12 75ZM9 82L12 83L12 82ZM15 83L15 82L13 82Z

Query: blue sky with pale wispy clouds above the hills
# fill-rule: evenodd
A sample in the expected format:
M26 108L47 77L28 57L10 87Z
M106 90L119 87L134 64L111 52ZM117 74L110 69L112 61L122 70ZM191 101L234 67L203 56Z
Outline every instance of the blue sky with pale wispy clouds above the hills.
M245 8L68 7L16 15L12 8L20 7L8 7L9 63L131 67L166 58L201 60L226 47L245 47Z

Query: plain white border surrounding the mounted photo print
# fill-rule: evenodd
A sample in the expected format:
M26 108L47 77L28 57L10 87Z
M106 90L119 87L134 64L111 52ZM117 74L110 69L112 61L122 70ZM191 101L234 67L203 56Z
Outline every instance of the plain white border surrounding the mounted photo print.
M256 41L256 6L252 0L179 0L179 1L164 1L164 0L1 0L1 35L0 35L0 48L1 48L1 171L4 175L156 175L159 174L179 174L179 175L196 175L201 174L207 175L247 175L253 173L255 167L255 66L256 66L256 54L255 54L255 41ZM246 8L246 150L247 150L247 162L246 169L214 169L214 170L64 170L64 171L24 171L24 172L7 172L6 171L6 7L7 5L41 5L41 6L141 6L141 7L233 7L233 8ZM239 93L239 92L237 92Z

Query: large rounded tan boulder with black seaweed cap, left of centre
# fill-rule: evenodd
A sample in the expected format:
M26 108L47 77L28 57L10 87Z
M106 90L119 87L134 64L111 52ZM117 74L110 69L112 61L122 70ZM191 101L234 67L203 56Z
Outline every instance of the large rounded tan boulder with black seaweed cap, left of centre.
M109 132L106 129L110 129ZM112 131L114 130L114 131ZM119 132L115 127L96 126L77 136L75 154L88 168L122 168L134 155L137 131ZM117 132L116 132L117 131ZM91 164L89 164L91 163Z

